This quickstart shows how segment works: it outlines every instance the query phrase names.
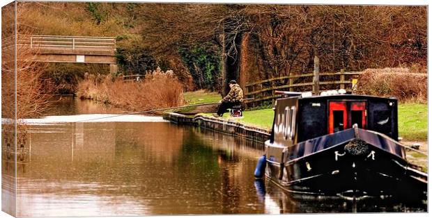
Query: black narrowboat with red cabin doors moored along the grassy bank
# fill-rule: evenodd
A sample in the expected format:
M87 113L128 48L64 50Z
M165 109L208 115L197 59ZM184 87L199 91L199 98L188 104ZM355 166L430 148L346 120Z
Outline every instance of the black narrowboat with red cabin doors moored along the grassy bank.
M255 177L288 192L424 199L427 174L398 141L397 100L279 92Z

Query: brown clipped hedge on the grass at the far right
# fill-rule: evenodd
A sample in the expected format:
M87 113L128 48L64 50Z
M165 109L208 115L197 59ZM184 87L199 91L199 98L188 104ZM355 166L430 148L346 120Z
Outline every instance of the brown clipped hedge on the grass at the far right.
M399 101L427 103L427 74L413 68L366 69L357 94L396 97Z

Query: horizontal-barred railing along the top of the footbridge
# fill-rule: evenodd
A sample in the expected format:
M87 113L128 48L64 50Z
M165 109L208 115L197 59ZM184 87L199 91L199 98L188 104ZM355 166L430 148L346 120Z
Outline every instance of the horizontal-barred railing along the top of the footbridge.
M32 49L71 49L114 51L114 37L84 37L65 35L17 35L17 44Z

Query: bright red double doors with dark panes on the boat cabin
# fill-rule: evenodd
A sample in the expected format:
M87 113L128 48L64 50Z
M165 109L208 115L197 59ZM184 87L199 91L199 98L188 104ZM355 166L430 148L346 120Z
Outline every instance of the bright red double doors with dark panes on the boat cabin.
M366 128L366 101L330 101L328 133L337 133L357 124Z

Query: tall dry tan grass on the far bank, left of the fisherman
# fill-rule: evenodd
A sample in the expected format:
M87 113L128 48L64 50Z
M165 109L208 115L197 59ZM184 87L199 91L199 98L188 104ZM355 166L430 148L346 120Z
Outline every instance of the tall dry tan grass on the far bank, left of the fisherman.
M181 106L183 85L171 71L148 72L144 81L125 82L111 76L88 76L79 83L77 96L128 110L152 110Z

